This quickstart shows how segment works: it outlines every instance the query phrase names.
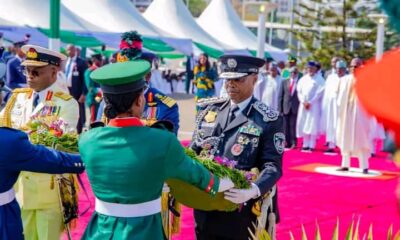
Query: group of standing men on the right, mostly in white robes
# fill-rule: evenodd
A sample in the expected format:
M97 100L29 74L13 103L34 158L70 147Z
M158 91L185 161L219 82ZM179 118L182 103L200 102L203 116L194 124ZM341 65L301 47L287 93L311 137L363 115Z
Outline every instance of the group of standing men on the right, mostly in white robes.
M354 92L353 73L362 67L362 60L354 58L348 67L344 59L333 57L332 68L326 72L318 62L309 61L302 73L296 63L294 57L287 68L267 62L254 92L256 98L284 116L286 147L296 148L297 139L302 139L301 149L314 151L319 137L325 136L327 153L336 147L341 150L339 171L348 171L354 156L367 174L368 158L375 154L377 142L385 139L385 131L365 113Z

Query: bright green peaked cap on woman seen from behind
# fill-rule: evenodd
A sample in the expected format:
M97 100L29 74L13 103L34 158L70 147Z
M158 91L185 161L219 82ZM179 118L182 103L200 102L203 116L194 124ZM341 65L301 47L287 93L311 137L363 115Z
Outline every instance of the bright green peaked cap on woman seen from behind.
M118 62L94 70L90 78L100 84L104 93L123 94L144 88L144 76L150 68L150 63L144 60Z

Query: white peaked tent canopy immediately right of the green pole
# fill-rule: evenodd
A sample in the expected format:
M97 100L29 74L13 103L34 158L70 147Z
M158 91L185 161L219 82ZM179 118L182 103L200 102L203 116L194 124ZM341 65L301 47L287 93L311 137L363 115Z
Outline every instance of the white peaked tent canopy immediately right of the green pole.
M135 30L148 38L160 39L186 55L193 51L190 39L172 38L157 29L143 18L129 0L62 0L62 4L80 18L104 28L107 32L122 33ZM104 38L104 33L93 35L99 40L108 39Z

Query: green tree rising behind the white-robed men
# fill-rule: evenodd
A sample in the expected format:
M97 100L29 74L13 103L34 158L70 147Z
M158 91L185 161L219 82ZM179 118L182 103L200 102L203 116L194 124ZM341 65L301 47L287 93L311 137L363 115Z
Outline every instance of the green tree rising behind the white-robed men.
M322 66L328 68L333 56L339 56L347 61L353 57L364 59L371 58L375 54L376 23L367 15L366 9L355 9L359 0L346 0L330 7L321 3L321 0L310 0L311 4L299 4L295 11L296 24L301 27L311 28L302 31L294 31L295 37L301 42L301 52L309 55L304 62L316 60ZM341 11L335 11L341 9ZM346 28L351 25L357 28L372 30L371 33L347 33ZM334 27L336 31L322 32L321 27ZM353 51L351 48L353 47ZM293 46L292 46L293 48Z

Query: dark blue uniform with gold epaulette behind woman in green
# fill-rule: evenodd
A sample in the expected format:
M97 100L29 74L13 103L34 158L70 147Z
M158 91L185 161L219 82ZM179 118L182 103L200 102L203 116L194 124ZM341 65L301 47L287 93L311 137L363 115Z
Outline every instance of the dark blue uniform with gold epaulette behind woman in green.
M146 105L143 111L143 119L146 125L152 125L158 120L167 120L174 125L174 133L179 130L179 108L176 101L155 88L149 88L144 97Z

